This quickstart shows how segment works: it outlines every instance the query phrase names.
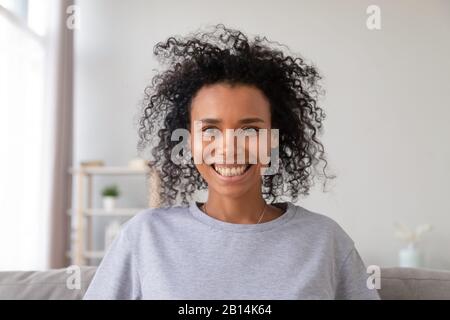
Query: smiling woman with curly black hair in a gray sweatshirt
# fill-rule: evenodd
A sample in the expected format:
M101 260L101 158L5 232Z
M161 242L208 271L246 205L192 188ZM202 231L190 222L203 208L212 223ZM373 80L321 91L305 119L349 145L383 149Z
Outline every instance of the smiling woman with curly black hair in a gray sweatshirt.
M154 53L168 68L146 90L139 148L159 137L162 205L124 225L84 298L379 299L336 222L280 201L307 195L312 169L326 167L317 70L223 25ZM187 149L177 149L178 129ZM192 198L200 189L204 203Z

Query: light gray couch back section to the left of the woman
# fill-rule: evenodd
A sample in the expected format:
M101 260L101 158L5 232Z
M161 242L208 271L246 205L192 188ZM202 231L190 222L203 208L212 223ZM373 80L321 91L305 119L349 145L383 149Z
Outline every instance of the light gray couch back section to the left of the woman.
M77 300L86 292L96 267L80 268L80 288L71 289L73 272L67 269L48 271L0 272L0 299L10 300ZM72 278L70 278L72 277Z

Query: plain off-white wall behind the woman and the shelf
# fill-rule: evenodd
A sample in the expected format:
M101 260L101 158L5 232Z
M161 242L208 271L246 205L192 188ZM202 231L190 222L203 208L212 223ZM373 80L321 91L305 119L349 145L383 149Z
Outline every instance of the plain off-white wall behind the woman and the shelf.
M355 240L367 264L393 266L393 223L431 223L426 265L450 269L450 5L447 1L81 0L76 34L75 162L136 155L133 116L173 34L225 23L287 44L324 75L323 141L338 178L299 201ZM366 28L381 8L382 29ZM136 182L127 201L141 201ZM125 201L125 200L124 200Z

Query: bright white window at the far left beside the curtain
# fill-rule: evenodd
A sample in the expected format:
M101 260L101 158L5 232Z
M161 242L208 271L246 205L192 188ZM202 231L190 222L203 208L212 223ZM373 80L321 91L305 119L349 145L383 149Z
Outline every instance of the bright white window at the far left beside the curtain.
M46 263L40 175L45 161L48 3L0 0L1 269Z

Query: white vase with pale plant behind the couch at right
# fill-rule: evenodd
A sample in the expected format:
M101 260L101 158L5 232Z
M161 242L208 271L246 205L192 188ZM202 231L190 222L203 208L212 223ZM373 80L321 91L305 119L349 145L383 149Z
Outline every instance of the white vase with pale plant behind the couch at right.
M407 226L395 223L395 236L404 240L407 245L398 253L398 260L400 267L418 268L423 265L422 254L417 247L422 235L432 229L429 224L417 226L415 230Z

